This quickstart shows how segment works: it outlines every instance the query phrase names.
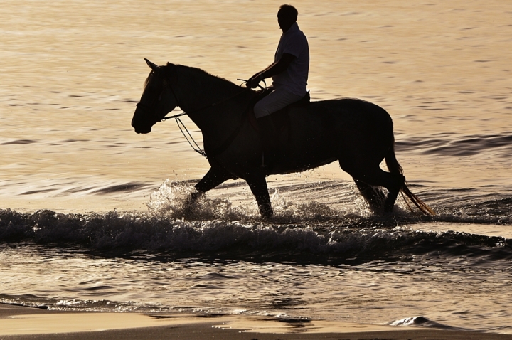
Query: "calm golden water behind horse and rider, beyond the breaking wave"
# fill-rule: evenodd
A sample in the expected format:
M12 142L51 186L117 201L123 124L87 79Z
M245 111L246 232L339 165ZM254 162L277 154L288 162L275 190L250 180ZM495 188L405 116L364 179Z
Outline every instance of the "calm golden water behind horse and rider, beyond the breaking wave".
M130 127L149 72L143 58L239 83L272 62L280 4L2 0L0 208L144 208L144 195L164 179L201 178L208 162L174 122L147 135ZM398 141L512 131L511 1L292 4L309 38L314 100L375 102L393 117ZM398 152L409 181L510 181L492 150L460 158L420 152ZM316 176L348 179L336 164ZM147 186L97 194L133 183Z

